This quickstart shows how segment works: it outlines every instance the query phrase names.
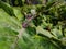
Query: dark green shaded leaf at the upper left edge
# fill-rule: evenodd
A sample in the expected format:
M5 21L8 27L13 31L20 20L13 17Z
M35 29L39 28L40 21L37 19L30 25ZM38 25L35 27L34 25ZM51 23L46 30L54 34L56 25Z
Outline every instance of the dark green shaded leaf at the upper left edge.
M0 1L0 8L2 8L11 16L15 16L12 7L10 7L8 3Z

